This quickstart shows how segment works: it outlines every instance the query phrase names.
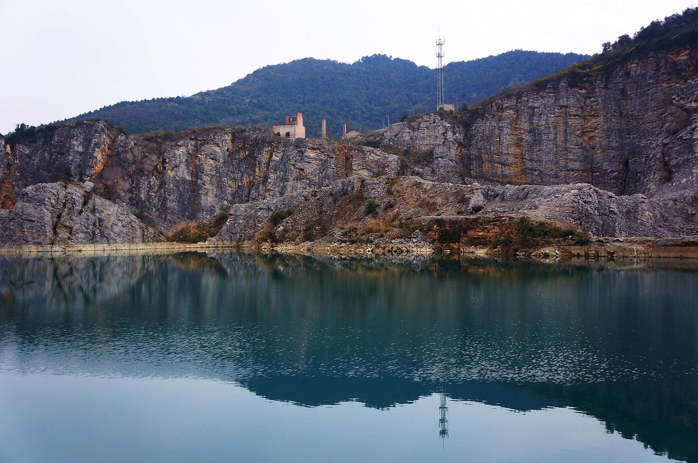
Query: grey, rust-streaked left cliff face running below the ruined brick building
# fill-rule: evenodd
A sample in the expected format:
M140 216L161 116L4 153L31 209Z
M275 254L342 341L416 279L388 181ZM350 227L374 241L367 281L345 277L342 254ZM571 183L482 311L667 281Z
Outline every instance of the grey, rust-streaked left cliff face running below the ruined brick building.
M95 193L166 229L211 220L232 205L317 189L348 175L403 175L403 159L379 149L324 140L284 140L269 128L210 129L177 142L123 135L82 122L38 135L1 156L0 203L13 207L27 186L91 180ZM1 167L1 166L0 166Z

